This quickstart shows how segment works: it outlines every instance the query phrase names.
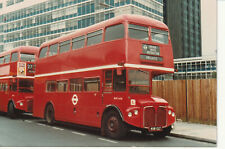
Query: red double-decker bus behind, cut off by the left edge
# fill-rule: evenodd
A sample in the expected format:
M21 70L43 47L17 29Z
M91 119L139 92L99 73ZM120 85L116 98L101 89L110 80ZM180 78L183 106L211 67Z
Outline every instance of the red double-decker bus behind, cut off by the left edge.
M0 53L0 111L15 117L32 112L35 59L39 48L21 46Z

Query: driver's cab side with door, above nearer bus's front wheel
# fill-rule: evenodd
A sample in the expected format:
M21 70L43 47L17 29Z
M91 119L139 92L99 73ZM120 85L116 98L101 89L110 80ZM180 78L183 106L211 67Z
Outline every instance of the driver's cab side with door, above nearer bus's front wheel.
M122 106L126 98L126 70L113 69L104 71L103 104Z

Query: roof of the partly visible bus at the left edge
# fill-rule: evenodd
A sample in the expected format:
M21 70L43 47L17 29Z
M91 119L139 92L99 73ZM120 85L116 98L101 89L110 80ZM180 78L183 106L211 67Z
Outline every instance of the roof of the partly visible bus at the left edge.
M0 53L0 57L8 55L13 52L25 52L25 53L34 53L35 55L38 54L39 48L34 46L20 46L16 47L15 49L8 50L5 52Z

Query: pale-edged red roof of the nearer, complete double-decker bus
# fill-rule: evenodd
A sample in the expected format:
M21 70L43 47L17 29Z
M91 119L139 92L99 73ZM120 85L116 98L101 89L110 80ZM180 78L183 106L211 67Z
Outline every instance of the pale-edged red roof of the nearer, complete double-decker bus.
M123 14L123 15L119 15L117 17L111 18L109 20L91 25L89 27L86 28L82 28L82 29L78 29L70 34L52 39L50 41L44 42L41 47L45 47L54 43L59 43L59 42L63 42L66 41L68 39L77 37L77 36L81 36L81 35L85 35L87 33L96 31L98 29L104 28L105 26L110 26L110 25L114 25L114 24L118 24L118 23L122 23L122 22L133 22L133 23L137 23L137 24L142 24L142 25L148 25L148 26L152 26L152 27L156 27L156 28L160 28L160 29L164 29L164 30L168 30L168 27L166 24L164 24L163 22L160 22L158 20L152 19L150 17L147 16L141 16L141 15L134 15L134 14Z

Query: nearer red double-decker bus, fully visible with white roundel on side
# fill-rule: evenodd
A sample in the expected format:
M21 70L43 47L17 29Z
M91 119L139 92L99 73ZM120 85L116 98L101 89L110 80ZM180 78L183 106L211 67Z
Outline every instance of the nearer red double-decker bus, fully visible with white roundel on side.
M121 15L41 45L33 116L98 127L115 139L129 129L165 136L175 113L152 96L152 78L173 72L168 27Z

